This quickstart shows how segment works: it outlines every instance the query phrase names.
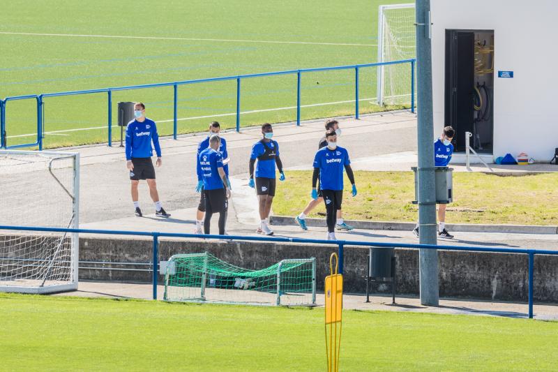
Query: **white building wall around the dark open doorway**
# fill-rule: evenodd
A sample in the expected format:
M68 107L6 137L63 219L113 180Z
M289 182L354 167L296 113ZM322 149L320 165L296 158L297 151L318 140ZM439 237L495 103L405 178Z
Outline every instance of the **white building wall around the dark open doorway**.
M435 135L444 126L446 29L494 30L494 157L558 147L558 1L431 0ZM513 78L497 77L513 70Z

